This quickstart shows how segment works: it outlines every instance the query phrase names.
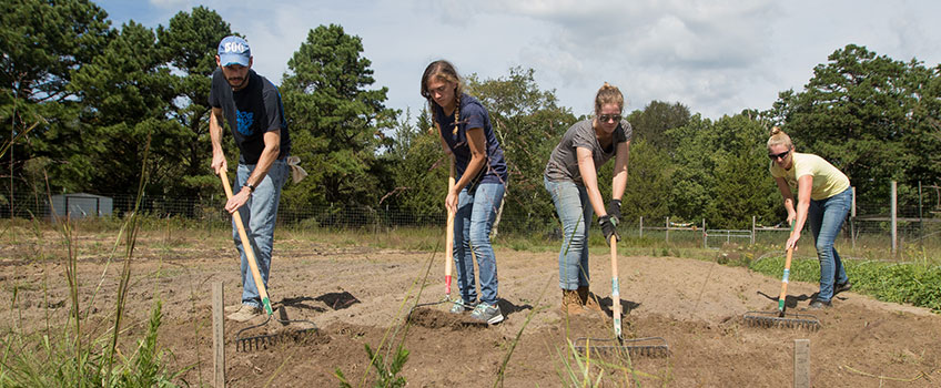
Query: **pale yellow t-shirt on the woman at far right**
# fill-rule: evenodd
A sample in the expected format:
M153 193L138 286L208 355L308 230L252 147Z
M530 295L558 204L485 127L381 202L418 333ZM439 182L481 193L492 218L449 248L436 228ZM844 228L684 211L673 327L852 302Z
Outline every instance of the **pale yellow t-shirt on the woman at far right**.
M810 188L810 198L813 201L827 200L840 194L850 187L850 180L841 171L837 170L830 162L814 154L793 153L791 170L785 170L771 162L768 169L773 177L783 177L797 194L797 180L805 175L813 176L813 187Z

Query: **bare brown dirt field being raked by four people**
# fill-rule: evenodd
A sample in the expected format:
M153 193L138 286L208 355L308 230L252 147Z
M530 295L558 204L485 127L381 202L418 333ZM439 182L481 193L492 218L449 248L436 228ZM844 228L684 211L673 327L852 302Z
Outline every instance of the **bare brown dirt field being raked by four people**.
M401 340L403 318L414 303L411 297L405 304L403 300L413 282L425 273L432 253L352 244L336 247L282 232L277 238L270 280L272 302L292 319L312 320L318 330L303 343L244 353L236 351L235 336L247 325L226 321L227 386L336 387L333 375L337 368L354 386L361 385L370 369L368 384L375 374L368 367L364 344L376 348L386 335ZM32 259L61 252L62 244L55 241L61 237L49 233L42 241L20 238L0 246L0 298L12 300L12 290L18 290L13 308L0 313L4 333L44 328L47 312L53 321L63 321L69 302L61 261ZM107 235L80 236L78 241L82 304L91 300L94 286L107 273L88 319L87 327L92 330L102 330L113 310L121 266L112 263L105 268L105 256L100 254L108 252L113 241L114 236ZM129 335L140 336L154 297L159 297L164 303L160 344L172 351L166 358L170 368L192 368L181 384L211 386L211 284L223 282L226 305L237 303L241 295L231 242L195 235L169 241L144 236L138 245L125 320ZM480 327L451 319L443 313L445 305L417 310L404 340L409 357L401 376L408 386L494 386L520 329L505 367L504 386L565 386L567 380L560 376L563 360L569 357L567 334L573 339L611 336L609 316L566 319L559 313L556 253L497 249L497 261L506 320ZM421 302L443 297L443 263L437 255ZM664 337L670 350L665 358L633 359L637 374L608 369L605 386L623 386L629 379L631 386L645 387L788 387L798 338L810 340L813 386L941 386L941 316L925 309L848 292L837 297L833 308L816 313L823 326L819 331L753 328L743 325L741 315L773 309L780 279L746 268L672 257L620 256L619 272L626 337ZM604 252L593 254L591 274L591 290L609 306L610 261ZM48 299L43 298L43 284ZM798 312L817 286L792 283L789 289L788 305ZM272 330L292 327L269 325Z

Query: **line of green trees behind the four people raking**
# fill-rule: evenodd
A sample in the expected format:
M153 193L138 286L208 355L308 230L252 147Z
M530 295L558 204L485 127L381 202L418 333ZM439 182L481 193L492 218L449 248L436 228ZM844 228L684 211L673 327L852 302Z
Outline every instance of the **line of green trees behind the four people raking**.
M47 185L52 193L133 194L142 166L148 195L220 193L209 169L210 74L219 41L239 31L215 11L196 7L151 29L133 21L114 28L104 9L84 0L10 0L0 9L0 119L9 125L0 131L0 208ZM439 219L447 161L427 131L428 112L413 118L386 106L387 89L374 86L363 51L341 25L320 25L281 74L293 153L310 173L285 186L282 208L389 207L416 223ZM561 134L585 116L560 106L533 69L510 68L496 79L469 74L466 83L505 150L503 217L545 229L554 206L543 169ZM629 96L630 86L621 89ZM856 44L837 49L801 90L780 92L766 111L710 120L678 102L651 101L627 118L635 136L623 213L706 218L716 227L745 227L751 216L779 223L785 214L765 147L776 124L799 152L843 171L858 203L888 208L894 180L903 205L917 204L920 182L941 181L939 110L941 65ZM234 165L233 142L223 144ZM603 192L610 190L610 169L603 170Z

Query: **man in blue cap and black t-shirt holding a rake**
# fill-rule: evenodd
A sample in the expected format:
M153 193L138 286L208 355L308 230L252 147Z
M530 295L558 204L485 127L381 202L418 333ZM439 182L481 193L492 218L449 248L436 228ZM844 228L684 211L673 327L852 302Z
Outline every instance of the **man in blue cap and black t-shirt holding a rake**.
M222 120L225 118L240 151L235 192L225 210L241 214L253 245L249 248L254 248L259 272L267 288L274 222L281 187L287 180L285 160L291 152L284 105L277 88L252 70L252 50L244 39L232 35L219 42L215 63L219 68L212 73L209 94L212 169L216 174L227 169L222 151ZM234 221L232 236L242 256L242 303L225 310L230 319L246 321L261 314L261 300L249 270L246 247L242 246Z

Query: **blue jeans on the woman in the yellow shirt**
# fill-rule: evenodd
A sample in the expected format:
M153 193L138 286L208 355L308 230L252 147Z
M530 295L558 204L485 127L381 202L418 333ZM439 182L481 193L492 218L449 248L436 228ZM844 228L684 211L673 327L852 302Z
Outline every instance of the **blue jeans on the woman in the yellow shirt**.
M817 258L820 261L820 293L817 299L828 302L833 297L833 284L849 280L843 269L840 254L833 247L833 242L843 226L843 221L852 204L852 188L826 200L810 201L807 217L813 241L817 243Z

